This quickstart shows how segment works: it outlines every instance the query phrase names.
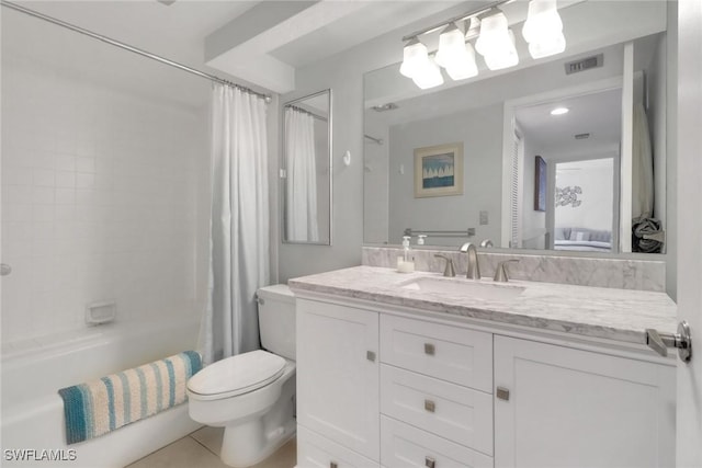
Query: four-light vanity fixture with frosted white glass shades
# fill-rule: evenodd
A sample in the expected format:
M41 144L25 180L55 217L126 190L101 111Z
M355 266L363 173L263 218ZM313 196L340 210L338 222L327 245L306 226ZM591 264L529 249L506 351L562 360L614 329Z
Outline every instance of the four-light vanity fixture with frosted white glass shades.
M501 70L519 64L514 33L509 28L505 13L497 7L513 0L496 0L460 16L417 31L403 37L400 73L411 78L422 89L443 84L441 68L452 80L464 80L478 75L475 60L477 50L490 70ZM419 36L441 31L439 49L431 58ZM464 33L465 32L465 33ZM556 0L531 0L522 35L529 43L533 58L547 57L565 50L566 39ZM475 48L471 41L475 39Z

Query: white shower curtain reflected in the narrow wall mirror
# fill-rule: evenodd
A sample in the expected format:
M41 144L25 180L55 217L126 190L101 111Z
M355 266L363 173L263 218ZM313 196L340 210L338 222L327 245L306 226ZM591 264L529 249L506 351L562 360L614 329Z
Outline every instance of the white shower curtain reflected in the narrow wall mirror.
M285 155L287 240L318 242L315 117L309 113L285 107Z

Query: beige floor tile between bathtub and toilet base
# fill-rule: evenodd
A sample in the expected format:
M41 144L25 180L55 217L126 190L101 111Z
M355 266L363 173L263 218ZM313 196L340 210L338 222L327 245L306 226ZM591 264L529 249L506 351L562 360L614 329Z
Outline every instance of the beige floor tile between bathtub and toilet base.
M126 468L229 468L191 437L183 437Z

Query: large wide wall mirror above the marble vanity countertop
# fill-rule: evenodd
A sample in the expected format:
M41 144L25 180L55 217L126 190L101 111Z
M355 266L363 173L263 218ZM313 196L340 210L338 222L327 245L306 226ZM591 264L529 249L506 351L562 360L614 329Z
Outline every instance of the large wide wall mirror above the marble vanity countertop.
M525 3L502 9L519 18ZM489 239L512 249L665 252L666 10L574 2L559 10L565 53L534 60L518 43L517 67L490 71L478 58L478 77L444 76L430 90L403 77L399 64L366 73L364 242L426 233L429 246ZM519 20L511 27L521 32ZM552 115L556 107L568 112ZM417 196L417 180L431 175L416 178L417 155L451 146L461 147L462 186ZM456 153L433 157L453 158L445 174L458 168ZM635 239L638 221L644 235Z

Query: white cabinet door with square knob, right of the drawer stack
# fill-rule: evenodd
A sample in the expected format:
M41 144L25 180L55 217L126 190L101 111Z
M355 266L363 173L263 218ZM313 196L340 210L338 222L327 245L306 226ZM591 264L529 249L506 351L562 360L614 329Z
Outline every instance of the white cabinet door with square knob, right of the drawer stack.
M495 465L672 467L675 381L675 366L495 336Z

